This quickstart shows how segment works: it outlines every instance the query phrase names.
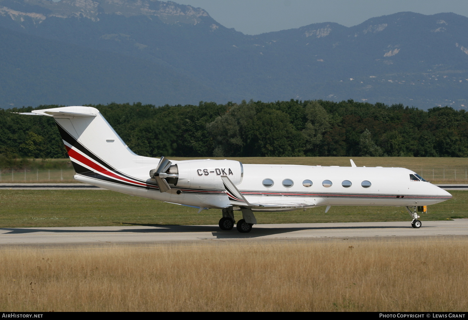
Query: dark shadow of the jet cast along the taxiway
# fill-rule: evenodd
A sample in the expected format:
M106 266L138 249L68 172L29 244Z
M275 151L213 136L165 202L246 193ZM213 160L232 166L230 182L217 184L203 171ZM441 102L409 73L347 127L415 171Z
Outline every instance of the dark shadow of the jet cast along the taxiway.
M127 225L141 225L133 223L125 223ZM24 234L24 233L198 233L198 232L211 232L212 235L219 239L229 238L256 238L266 235L275 235L280 233L288 233L294 231L303 230L338 230L338 229L407 229L411 226L324 226L324 227L278 227L278 228L267 228L261 225L256 225L252 228L250 233L239 233L234 228L229 231L219 230L218 226L215 225L141 225L148 227L157 228L141 228L141 229L121 229L121 230L71 230L71 229L39 229L39 228L0 228L1 231L7 231L1 234ZM426 226L428 228L430 226ZM424 226L423 226L424 228Z

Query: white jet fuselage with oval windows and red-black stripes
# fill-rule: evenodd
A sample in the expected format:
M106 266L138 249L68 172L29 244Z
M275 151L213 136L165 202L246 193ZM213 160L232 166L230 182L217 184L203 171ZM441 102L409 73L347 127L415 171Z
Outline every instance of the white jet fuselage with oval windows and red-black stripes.
M172 161L177 164L179 161ZM154 164L154 166L156 163ZM243 177L237 185L251 203L303 202L307 207L322 205L421 206L437 204L452 196L443 189L423 181L409 179L413 171L385 167L321 167L296 165L244 164ZM222 209L230 205L219 179L212 188L178 187L159 192L154 179L147 179L149 167L140 169L137 180L147 183L131 186L115 180L75 175L75 179L102 188L177 204ZM144 170L144 171L143 171ZM273 184L263 185L265 179ZM286 182L285 182L286 181ZM292 182L292 185L290 185ZM331 183L329 183L331 182ZM364 183L363 183L364 182ZM295 208L299 209L299 208ZM294 209L253 208L253 211L289 211Z

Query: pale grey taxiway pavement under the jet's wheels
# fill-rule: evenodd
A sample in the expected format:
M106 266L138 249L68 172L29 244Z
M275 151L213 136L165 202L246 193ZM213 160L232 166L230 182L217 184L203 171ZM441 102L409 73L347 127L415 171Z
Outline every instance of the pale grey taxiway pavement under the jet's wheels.
M216 240L297 240L384 237L468 236L468 219L254 225L250 233L222 231L218 225L134 225L104 227L0 228L0 247L17 245L132 244Z

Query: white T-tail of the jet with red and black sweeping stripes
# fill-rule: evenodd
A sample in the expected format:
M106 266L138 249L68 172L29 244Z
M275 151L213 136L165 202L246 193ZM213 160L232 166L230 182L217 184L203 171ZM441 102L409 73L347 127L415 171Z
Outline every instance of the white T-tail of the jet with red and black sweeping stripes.
M130 150L98 109L74 106L34 110L28 114L54 118L78 174L75 176L77 180L95 185L98 184L89 179L126 186L146 186L145 180L128 173L136 167L135 159L142 157ZM154 159L154 162L157 161Z

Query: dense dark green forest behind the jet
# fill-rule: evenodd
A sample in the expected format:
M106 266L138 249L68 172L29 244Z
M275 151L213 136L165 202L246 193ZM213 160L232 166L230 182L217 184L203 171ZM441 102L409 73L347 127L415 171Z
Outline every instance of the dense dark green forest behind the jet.
M150 157L468 157L468 112L450 107L353 100L89 106L133 152ZM12 113L31 110L0 109L0 166L8 159L66 158L52 118Z

